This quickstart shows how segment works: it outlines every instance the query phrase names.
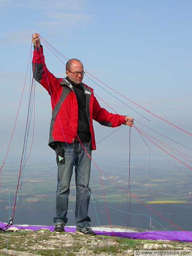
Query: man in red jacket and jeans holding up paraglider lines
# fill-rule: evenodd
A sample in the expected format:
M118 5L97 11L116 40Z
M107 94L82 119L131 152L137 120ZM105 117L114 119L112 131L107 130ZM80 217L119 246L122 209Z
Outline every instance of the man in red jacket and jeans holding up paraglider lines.
M32 35L34 44L33 75L49 93L52 119L49 146L56 152L58 184L54 231L63 232L67 223L70 181L75 166L76 174L76 233L95 235L90 228L88 207L90 201L91 151L96 149L93 119L102 125L132 126L134 119L109 113L101 108L93 89L82 83L84 67L78 59L66 64L66 78L56 78L46 67L39 33Z

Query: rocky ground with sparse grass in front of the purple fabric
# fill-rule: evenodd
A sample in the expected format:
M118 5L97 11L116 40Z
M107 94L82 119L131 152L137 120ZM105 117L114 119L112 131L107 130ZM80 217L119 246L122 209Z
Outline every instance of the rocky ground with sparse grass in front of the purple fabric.
M82 236L73 233L16 231L0 233L0 256L132 256L134 250L191 250L176 241Z

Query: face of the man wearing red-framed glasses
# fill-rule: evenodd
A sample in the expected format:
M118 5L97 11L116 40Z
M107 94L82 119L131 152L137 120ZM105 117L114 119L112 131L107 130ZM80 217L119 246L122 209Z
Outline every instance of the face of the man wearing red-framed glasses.
M74 74L75 72L81 72L78 75ZM70 70L66 70L66 75L69 77L71 81L75 84L81 84L83 80L83 65L79 61L73 61L71 64Z

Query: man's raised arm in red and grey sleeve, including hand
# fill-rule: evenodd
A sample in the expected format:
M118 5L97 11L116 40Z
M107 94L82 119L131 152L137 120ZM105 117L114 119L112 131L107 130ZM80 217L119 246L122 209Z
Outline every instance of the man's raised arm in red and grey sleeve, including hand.
M34 44L34 52L32 59L33 77L52 95L58 87L58 79L47 69L43 47L39 39L39 33L32 35L32 43Z

